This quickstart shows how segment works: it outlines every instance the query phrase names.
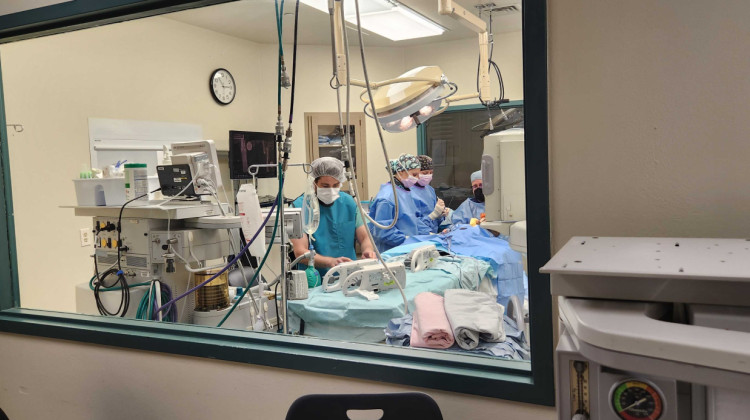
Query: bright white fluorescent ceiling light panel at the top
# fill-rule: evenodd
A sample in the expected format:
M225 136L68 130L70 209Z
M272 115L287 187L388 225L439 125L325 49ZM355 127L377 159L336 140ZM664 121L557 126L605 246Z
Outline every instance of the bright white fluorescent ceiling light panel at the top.
M354 1L345 1L344 19L356 25ZM328 13L328 0L301 0L301 2ZM360 0L359 8L362 28L391 41L437 36L445 32L442 26L397 1Z

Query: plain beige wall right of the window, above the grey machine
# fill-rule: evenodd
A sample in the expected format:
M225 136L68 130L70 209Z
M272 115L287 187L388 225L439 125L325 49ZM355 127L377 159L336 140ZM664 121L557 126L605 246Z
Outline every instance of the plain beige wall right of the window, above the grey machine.
M549 2L552 237L750 237L750 3Z

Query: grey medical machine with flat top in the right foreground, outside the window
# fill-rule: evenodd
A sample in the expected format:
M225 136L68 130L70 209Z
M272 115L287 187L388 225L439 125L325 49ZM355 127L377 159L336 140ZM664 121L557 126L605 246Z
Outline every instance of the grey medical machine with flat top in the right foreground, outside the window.
M541 271L560 420L748 418L750 240L574 237Z

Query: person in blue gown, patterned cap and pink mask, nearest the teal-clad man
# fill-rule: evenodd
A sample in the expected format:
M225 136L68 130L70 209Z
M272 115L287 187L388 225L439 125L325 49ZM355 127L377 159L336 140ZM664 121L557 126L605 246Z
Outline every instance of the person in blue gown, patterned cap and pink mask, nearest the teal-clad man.
M416 156L404 153L398 159L389 162L396 187L393 195L393 185L390 182L380 186L380 191L370 203L370 217L381 225L388 226L393 222L398 197L398 220L390 229L380 229L370 225L370 232L375 239L375 245L381 251L389 250L401 245L406 238L420 234L419 219L422 217L417 209L412 190L419 181L421 165Z

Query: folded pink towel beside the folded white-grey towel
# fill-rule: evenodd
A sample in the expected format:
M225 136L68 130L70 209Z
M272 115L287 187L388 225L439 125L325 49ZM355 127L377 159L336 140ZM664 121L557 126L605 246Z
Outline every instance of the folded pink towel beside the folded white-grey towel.
M414 320L411 326L411 346L447 349L453 345L453 331L445 315L443 297L422 292L414 297Z

